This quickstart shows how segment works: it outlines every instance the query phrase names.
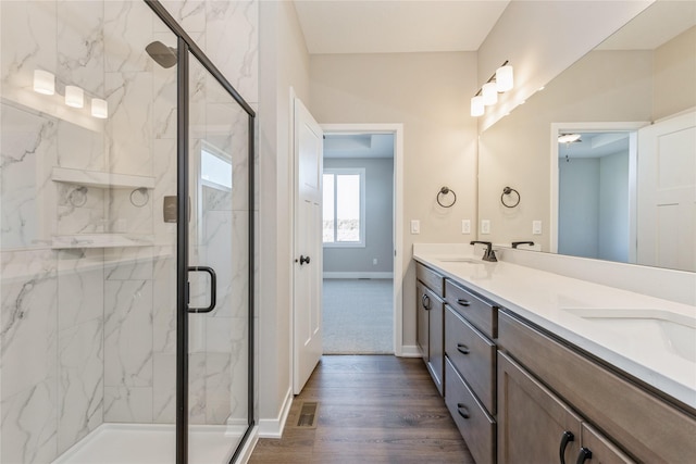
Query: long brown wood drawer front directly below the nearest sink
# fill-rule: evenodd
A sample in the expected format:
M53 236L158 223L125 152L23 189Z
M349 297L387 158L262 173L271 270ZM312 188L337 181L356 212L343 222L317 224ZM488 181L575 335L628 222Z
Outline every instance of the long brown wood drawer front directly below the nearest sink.
M500 312L498 346L641 462L696 455L696 415Z

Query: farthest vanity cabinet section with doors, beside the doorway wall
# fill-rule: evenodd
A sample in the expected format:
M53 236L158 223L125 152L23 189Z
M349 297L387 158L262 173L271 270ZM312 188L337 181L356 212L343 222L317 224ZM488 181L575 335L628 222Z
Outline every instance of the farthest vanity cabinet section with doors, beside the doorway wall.
M445 394L444 277L422 264L417 265L417 343L439 394Z

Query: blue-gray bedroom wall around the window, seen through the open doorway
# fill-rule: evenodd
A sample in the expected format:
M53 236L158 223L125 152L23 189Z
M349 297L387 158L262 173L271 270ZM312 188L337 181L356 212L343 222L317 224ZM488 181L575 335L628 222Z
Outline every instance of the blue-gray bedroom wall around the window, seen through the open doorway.
M324 159L324 167L365 168L365 247L324 248L324 274L394 271L394 160ZM377 264L373 260L377 259Z

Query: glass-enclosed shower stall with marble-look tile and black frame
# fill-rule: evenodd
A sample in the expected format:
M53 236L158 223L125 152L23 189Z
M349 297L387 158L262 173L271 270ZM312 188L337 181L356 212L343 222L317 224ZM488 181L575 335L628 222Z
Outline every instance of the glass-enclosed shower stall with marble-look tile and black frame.
M0 462L234 461L253 111L157 1L0 22Z

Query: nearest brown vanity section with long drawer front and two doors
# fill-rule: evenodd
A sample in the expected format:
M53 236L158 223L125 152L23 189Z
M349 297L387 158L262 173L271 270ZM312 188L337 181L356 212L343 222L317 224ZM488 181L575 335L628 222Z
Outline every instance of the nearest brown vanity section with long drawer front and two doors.
M499 463L562 462L566 431L566 462L583 462L582 449L587 463L693 461L693 413L512 313L498 317Z

